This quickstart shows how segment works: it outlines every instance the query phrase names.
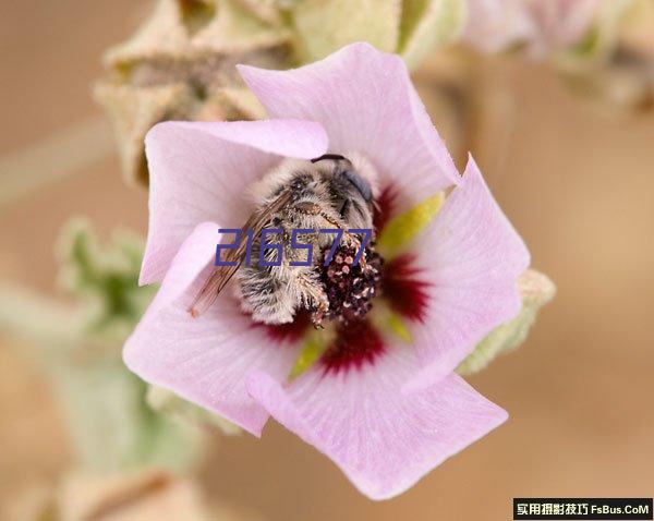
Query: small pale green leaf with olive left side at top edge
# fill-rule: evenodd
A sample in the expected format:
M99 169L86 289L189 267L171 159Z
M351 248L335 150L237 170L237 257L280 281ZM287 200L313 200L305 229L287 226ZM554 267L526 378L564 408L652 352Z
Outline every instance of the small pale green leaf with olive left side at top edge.
M409 69L433 49L457 40L465 17L464 0L403 0L398 51Z

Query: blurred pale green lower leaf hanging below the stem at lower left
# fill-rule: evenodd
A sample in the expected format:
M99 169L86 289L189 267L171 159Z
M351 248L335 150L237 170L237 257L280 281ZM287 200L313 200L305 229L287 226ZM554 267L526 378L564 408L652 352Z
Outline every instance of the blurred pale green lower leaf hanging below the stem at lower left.
M201 433L150 409L147 384L118 355L98 359L81 351L49 369L84 470L184 470L196 460Z

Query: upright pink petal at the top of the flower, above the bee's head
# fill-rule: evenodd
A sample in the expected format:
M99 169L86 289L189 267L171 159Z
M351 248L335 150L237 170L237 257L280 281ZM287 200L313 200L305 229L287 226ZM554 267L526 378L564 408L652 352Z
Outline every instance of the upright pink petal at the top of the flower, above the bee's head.
M364 154L409 201L459 181L399 56L353 44L291 71L239 71L270 117L319 122L329 152Z

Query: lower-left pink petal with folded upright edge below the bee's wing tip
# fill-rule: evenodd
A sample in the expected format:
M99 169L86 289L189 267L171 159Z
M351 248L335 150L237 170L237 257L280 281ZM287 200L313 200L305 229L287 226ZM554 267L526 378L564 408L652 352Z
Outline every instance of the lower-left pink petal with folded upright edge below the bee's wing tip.
M218 241L218 225L199 225L180 247L155 301L128 339L128 367L150 384L231 420L258 436L268 419L247 395L253 371L284 379L296 356L288 343L271 342L264 328L252 326L229 294L199 318L186 308L205 280Z

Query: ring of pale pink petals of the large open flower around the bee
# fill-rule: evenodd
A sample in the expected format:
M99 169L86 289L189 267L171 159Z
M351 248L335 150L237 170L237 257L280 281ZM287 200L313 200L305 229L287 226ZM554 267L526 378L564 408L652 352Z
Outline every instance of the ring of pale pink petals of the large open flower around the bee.
M162 283L126 342L125 363L255 436L272 415L367 496L395 496L506 420L453 369L519 312L529 253L474 161L458 174L398 56L354 44L296 70L239 70L271 119L166 122L146 137L141 282ZM387 259L374 301L404 317L411 343L367 319L337 327L318 362L290 380L303 315L254 324L227 290L198 318L187 307L214 269L218 228L240 227L252 211L246 189L284 158L327 152L372 162L378 227L453 191L412 251Z

